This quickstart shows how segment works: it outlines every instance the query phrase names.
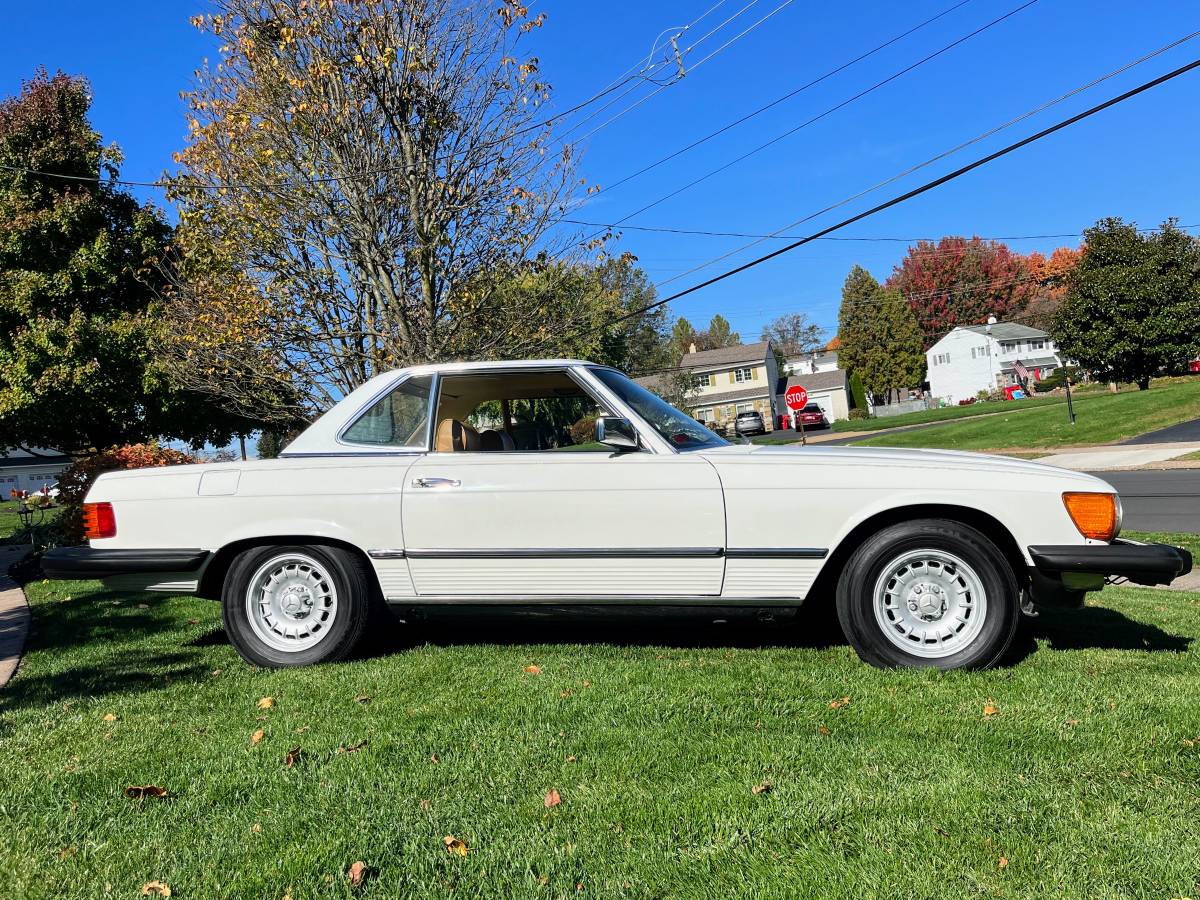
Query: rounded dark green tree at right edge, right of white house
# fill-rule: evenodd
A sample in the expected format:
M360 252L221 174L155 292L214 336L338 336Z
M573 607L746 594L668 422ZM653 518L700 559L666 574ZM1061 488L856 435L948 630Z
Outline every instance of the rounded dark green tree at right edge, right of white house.
M1102 378L1139 390L1200 354L1200 240L1175 220L1139 234L1103 218L1084 234L1054 319L1060 352Z

